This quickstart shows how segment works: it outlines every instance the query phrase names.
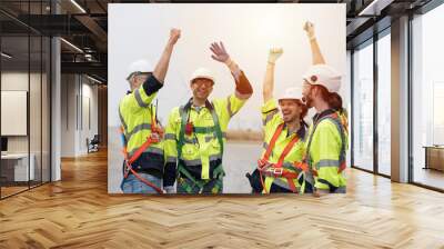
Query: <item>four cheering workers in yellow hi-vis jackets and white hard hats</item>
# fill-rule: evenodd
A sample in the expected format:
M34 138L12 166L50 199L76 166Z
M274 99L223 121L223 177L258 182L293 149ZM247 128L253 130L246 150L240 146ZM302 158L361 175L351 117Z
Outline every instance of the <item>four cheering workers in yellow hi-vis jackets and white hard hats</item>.
M310 40L313 64L302 77L302 86L286 89L278 99L273 97L274 68L283 50L272 48L269 53L261 110L263 152L255 170L246 173L252 192L314 196L345 192L347 120L337 93L342 77L325 63L314 26L306 22L303 29ZM127 80L131 91L119 106L124 193L223 192L222 158L228 124L253 94L253 88L223 43L214 42L210 47L211 57L230 70L234 92L210 101L216 80L209 69L196 69L190 78L192 97L171 111L163 129L152 101L163 87L180 36L179 29L170 31L154 68L144 60L130 66ZM316 113L307 127L304 118L311 108Z

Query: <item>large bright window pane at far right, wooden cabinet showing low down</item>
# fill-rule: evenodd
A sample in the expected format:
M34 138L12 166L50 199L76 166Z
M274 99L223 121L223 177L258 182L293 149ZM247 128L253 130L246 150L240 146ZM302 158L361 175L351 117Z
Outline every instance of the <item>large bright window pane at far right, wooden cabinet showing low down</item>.
M413 20L413 181L444 189L444 4Z

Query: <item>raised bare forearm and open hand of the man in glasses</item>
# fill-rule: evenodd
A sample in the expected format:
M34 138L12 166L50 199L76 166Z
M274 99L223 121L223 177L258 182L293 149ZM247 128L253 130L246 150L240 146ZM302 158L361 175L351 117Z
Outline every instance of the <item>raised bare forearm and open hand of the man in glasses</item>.
M245 73L239 68L239 66L230 58L226 52L225 47L222 42L211 43L210 50L213 52L211 58L219 62L223 62L230 69L231 74L234 77L235 81L235 97L239 99L249 99L253 94L253 88Z

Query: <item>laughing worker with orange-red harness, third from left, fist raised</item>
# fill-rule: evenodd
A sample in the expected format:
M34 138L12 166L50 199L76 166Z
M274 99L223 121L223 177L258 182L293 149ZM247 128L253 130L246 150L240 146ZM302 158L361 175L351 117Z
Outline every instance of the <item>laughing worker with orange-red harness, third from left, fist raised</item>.
M252 176L248 176L253 192L303 193L305 187L311 191L311 186L305 185L304 170L299 168L305 152L306 123L303 118L307 112L300 100L301 89L289 88L278 101L273 98L274 66L282 53L280 48L271 49L269 53L263 82L263 152L258 161L258 169Z

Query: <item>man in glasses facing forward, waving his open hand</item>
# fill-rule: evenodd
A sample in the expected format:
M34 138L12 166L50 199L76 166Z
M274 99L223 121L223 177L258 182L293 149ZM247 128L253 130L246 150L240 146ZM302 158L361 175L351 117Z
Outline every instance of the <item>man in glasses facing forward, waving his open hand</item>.
M199 68L190 79L193 97L184 106L174 108L165 129L167 155L163 186L167 192L221 193L225 131L230 119L252 96L253 89L244 72L230 58L222 42L210 47L212 58L230 69L235 92L223 99L209 101L215 79L205 68Z

